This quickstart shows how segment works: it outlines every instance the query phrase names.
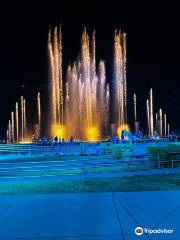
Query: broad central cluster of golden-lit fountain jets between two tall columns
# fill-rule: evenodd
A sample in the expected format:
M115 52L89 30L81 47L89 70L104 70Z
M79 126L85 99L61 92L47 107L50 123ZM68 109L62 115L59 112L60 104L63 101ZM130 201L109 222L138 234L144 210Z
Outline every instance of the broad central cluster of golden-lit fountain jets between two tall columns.
M103 60L99 63L98 73L96 71L95 54L95 33L90 42L85 29L81 38L81 57L69 65L67 71L65 126L68 137L97 140L108 133L109 86Z

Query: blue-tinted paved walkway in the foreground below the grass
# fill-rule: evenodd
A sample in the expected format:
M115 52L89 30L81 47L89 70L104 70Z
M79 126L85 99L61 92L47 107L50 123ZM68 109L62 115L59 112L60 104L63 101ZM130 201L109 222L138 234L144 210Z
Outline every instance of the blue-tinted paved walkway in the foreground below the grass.
M179 219L180 191L0 196L1 240L178 240Z

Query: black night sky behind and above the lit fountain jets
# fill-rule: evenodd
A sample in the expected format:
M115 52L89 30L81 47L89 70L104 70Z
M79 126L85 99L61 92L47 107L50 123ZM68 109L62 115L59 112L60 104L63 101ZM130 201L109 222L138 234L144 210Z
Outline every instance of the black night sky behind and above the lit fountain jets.
M145 125L145 100L154 89L155 109L162 107L174 129L180 126L180 14L175 5L144 5L121 1L49 1L34 5L1 6L0 14L0 134L10 111L23 94L31 116L35 94L47 99L47 35L50 25L62 23L63 73L80 49L84 26L96 30L97 60L112 78L113 34L127 32L128 118L132 122L132 94L137 93L138 120Z

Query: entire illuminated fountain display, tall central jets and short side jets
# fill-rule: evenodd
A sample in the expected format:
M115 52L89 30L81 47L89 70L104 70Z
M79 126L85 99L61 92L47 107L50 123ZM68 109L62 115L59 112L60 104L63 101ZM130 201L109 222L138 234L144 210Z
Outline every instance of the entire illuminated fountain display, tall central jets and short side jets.
M129 130L127 125L127 83L126 83L126 34L115 31L113 79L106 77L105 61L96 61L95 31L90 36L84 29L81 37L80 54L68 65L62 74L62 31L61 27L50 29L48 35L49 56L49 137L69 139L73 136L81 141L96 141L111 134L121 136ZM133 96L134 122L137 122L136 94ZM39 139L42 118L41 95L37 93L37 119ZM160 137L169 136L166 114L156 113L154 119L153 91L146 101L148 134L154 136L154 129ZM15 113L15 115L14 115ZM111 115L110 115L111 113ZM110 132L113 129L113 133ZM113 126L113 128L112 128ZM139 127L135 127L135 131ZM26 100L23 96L11 112L6 131L8 142L27 140Z

